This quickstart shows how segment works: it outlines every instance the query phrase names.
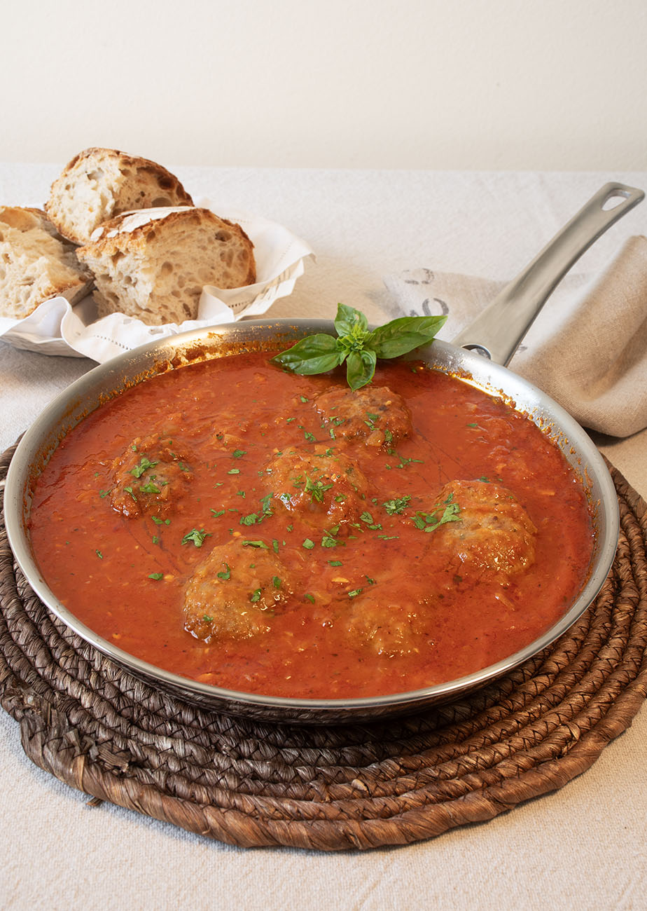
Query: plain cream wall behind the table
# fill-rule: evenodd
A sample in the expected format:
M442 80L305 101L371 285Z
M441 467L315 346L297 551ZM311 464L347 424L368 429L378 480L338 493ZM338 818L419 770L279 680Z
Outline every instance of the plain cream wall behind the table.
M645 0L21 0L0 159L647 169Z

